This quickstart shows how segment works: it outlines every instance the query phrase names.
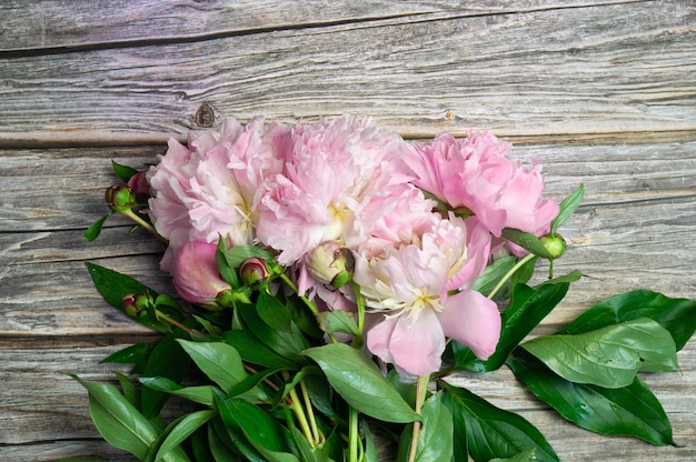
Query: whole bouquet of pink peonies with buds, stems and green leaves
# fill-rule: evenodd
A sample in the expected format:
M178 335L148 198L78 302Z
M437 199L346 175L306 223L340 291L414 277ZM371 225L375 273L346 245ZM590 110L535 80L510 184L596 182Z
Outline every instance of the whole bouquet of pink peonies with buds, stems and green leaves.
M122 183L86 235L117 212L151 231L179 298L88 264L162 334L105 360L135 364L138 386L76 378L99 432L143 461L376 461L377 434L399 461L558 460L529 422L447 381L507 365L583 428L674 444L636 373L678 368L696 303L629 292L523 343L581 277L550 269L583 188L544 200L541 167L508 150L348 116L230 118L147 171L113 163ZM528 285L538 259L549 279Z

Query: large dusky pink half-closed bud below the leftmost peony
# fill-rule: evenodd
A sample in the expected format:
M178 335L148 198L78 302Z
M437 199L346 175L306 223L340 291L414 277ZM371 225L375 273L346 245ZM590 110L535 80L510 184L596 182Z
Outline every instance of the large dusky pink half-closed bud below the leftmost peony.
M218 294L229 290L218 270L215 254L217 244L190 241L177 252L171 275L182 299L208 309L220 309Z

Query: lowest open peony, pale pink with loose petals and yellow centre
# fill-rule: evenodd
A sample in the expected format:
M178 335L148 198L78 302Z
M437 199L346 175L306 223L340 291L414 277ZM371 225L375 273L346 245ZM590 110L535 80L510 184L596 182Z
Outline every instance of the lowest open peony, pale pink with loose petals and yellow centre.
M486 267L489 235L476 218L450 215L419 243L358 258L354 279L371 311L384 315L367 332L367 348L418 375L439 370L447 337L481 359L493 354L500 314L495 302L469 289ZM448 295L454 289L460 291Z

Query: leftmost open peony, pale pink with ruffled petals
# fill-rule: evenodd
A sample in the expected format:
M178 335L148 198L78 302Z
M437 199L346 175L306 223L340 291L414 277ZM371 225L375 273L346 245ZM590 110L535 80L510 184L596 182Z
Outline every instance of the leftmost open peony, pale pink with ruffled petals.
M169 140L167 154L148 172L150 219L169 240L163 269L191 240L217 242L222 235L230 244L253 242L256 194L282 165L271 141L260 118L246 127L229 118L217 130L193 132L188 148Z

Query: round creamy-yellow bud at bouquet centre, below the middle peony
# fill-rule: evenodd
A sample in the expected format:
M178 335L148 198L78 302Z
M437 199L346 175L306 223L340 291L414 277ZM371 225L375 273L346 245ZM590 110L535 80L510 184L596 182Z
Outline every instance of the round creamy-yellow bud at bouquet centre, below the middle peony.
M352 251L336 241L326 241L307 255L307 271L322 284L340 288L352 279L356 260Z

